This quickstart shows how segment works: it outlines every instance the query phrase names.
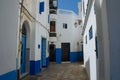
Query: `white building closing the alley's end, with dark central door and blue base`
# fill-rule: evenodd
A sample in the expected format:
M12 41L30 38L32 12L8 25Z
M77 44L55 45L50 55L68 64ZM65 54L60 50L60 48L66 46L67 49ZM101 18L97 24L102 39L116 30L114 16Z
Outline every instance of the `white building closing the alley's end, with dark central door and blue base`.
M55 45L55 56L53 57L51 52L50 57L54 58L56 63L80 61L83 56L80 17L73 11L58 9L57 15L52 15L50 20L56 21L56 37L50 38L50 45Z

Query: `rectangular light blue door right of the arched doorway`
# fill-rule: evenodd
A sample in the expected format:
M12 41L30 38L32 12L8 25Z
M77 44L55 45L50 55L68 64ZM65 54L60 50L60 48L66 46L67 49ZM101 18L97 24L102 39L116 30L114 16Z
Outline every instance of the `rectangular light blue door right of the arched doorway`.
M45 38L42 38L41 62L42 62L42 67L46 67L46 39Z

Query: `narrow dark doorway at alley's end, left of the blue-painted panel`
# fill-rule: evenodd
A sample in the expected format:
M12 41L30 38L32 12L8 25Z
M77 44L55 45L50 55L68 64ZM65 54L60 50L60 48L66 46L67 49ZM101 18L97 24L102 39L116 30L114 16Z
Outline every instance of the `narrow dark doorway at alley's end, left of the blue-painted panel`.
M55 62L56 61L56 46L55 46L55 44L53 44L53 43L50 44L49 49L50 49L50 61Z

